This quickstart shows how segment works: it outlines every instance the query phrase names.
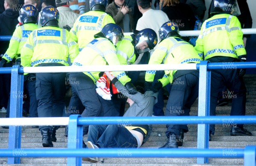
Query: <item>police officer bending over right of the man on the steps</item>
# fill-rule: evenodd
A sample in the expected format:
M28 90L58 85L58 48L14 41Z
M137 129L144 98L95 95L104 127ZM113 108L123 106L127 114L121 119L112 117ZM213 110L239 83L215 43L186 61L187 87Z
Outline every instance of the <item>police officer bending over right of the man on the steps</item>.
M175 23L166 22L160 30L161 42L152 54L148 64L182 64L199 63L200 57L194 47L180 39L179 28ZM147 90L158 91L161 87L172 83L172 89L166 105L166 116L189 115L190 108L198 97L198 70L165 70L165 75L154 86L156 71L148 70L145 74ZM167 124L167 143L161 148L177 148L178 142L182 145L183 136L180 132L188 132L186 125Z

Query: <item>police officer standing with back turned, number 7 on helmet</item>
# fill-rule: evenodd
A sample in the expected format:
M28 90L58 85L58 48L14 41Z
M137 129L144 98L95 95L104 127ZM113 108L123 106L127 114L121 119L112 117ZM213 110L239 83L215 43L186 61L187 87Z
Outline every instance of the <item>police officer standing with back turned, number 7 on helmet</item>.
M47 6L40 12L38 24L42 28L33 31L21 50L21 65L68 66L75 59L78 45L66 29L58 28L58 10ZM66 73L36 73L36 98L38 117L60 117L64 110ZM40 126L44 147L53 147L58 127Z

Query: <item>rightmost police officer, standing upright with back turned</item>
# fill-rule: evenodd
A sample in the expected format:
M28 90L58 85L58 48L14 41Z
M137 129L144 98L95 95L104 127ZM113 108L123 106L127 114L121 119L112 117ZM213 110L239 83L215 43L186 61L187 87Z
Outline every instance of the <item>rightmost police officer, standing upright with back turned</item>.
M212 17L204 21L196 41L195 49L204 60L224 63L223 69L211 72L210 115L215 115L218 93L224 86L236 96L232 100L230 115L245 115L246 87L242 78L245 70L225 69L225 63L246 61L241 25L234 16L239 14L238 11L236 0L215 0ZM243 124L230 125L233 125L230 135L252 135ZM215 125L211 124L210 135L214 132Z

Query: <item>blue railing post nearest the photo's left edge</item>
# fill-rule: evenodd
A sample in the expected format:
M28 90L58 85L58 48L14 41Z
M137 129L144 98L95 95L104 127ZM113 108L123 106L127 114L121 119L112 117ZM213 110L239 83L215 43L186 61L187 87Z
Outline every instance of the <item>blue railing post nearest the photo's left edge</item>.
M12 67L11 76L11 93L10 93L10 118L21 118L22 117L22 101L23 101L23 73L18 73L20 69L19 65ZM21 126L10 126L9 127L9 142L8 149L20 149L21 146ZM20 163L20 157L8 158L9 164Z

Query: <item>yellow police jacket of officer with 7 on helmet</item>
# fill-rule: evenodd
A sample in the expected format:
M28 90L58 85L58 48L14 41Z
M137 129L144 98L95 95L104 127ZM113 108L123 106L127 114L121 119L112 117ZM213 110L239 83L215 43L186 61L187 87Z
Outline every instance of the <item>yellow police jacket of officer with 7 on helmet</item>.
M20 54L23 67L37 66L41 63L60 63L68 66L78 55L78 45L69 31L47 26L38 28L29 35Z

